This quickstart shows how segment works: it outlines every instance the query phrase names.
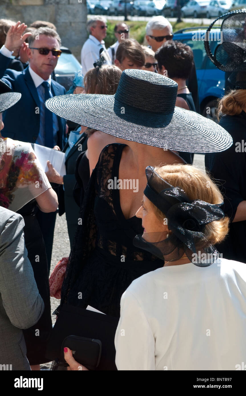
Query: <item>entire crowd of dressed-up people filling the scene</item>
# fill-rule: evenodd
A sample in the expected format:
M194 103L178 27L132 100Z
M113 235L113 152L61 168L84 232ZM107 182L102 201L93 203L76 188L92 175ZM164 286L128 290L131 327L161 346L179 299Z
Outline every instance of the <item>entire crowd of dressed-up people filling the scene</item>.
M67 92L55 26L0 20L1 365L235 370L245 360L246 11L228 18L239 28L224 28L227 64L212 59L233 86L218 124L199 114L193 51L162 16L146 25L148 46L120 22L106 49L107 21L94 15ZM49 160L45 171L33 143L65 153L66 174ZM57 213L71 253L50 276Z

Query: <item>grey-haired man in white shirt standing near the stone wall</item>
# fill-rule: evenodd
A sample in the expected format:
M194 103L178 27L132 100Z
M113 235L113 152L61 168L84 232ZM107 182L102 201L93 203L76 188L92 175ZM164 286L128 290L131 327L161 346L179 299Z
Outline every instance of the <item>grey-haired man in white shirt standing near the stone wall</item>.
M88 70L93 69L93 63L100 57L99 51L101 48L103 48L102 55L107 65L112 64L103 40L107 36L106 23L105 17L95 15L92 19L89 19L86 24L86 29L90 35L81 49L81 65L84 75Z

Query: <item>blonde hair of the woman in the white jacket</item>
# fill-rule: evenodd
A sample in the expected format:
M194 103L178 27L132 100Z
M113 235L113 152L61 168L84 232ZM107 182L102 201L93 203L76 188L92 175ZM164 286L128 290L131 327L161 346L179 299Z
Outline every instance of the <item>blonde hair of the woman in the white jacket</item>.
M220 204L223 196L215 183L195 166L177 164L165 165L154 168L162 179L174 187L182 188L190 200L202 200L209 204ZM163 223L166 217L160 209L149 201L157 218ZM225 238L229 231L229 218L212 221L205 226L205 236L211 245L215 245Z

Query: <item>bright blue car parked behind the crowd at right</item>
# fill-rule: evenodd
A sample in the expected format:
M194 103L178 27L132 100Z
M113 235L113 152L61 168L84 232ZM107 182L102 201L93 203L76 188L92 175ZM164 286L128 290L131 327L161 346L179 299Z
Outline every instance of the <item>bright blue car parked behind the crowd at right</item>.
M210 41L212 53L214 53L217 44L220 44L219 32L220 29L212 29L214 38L214 41ZM216 104L217 99L220 99L225 93L225 72L217 69L206 54L204 41L201 40L204 33L206 33L204 27L200 29L197 27L186 28L175 32L174 40L188 44L192 48L196 66L200 113L204 117L218 122L215 114Z

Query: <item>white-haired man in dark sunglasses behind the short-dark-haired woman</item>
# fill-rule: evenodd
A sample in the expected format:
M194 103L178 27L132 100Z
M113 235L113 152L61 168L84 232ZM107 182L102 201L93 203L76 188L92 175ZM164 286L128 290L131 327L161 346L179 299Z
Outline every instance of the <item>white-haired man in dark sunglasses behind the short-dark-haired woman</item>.
M161 15L153 17L149 20L146 25L146 40L149 43L151 49L154 52L157 51L166 41L173 40L174 34L172 25L170 22L162 17ZM188 80L186 81L186 85L191 92L193 97L193 101L195 104L196 112L200 112L200 104L198 97L198 85L197 85L197 77L196 77L196 68L195 63L193 68L191 69L191 74L189 75Z

